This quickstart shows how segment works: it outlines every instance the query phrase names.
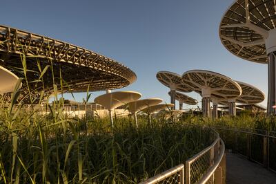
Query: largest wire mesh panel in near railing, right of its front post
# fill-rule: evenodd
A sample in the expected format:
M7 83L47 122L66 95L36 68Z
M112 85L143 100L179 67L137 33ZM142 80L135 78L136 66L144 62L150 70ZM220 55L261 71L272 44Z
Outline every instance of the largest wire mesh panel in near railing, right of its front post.
M190 164L190 183L197 183L210 167L210 151Z

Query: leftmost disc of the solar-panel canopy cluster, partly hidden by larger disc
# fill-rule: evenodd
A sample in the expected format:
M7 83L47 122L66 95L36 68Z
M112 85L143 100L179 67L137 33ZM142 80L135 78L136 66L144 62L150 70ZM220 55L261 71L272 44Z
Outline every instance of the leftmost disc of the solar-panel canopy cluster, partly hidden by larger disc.
M157 80L169 87L171 90L181 91L181 92L190 92L193 91L181 80L181 75L177 73L172 73L170 71L159 71L156 75Z

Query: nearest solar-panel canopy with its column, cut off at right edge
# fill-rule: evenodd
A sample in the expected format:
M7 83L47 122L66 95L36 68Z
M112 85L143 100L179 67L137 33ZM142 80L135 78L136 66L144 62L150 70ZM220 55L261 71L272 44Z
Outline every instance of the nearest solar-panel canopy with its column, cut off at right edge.
M236 0L221 19L219 36L234 55L268 64L268 114L276 103L276 1Z

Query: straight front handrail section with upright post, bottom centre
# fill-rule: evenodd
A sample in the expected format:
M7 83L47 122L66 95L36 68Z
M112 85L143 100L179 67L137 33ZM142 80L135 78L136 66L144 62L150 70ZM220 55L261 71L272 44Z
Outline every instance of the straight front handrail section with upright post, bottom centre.
M166 172L162 172L152 178L149 178L147 181L141 182L140 184L155 184L161 181L164 181L166 178L172 176L173 174L177 174L180 172L180 183L184 183L184 164L177 165L168 169ZM181 182L182 181L182 182Z

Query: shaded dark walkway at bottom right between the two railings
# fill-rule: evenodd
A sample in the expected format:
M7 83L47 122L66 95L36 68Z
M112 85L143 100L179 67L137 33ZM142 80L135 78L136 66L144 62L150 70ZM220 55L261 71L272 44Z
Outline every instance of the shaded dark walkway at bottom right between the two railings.
M237 154L226 154L226 184L275 184L276 174Z

